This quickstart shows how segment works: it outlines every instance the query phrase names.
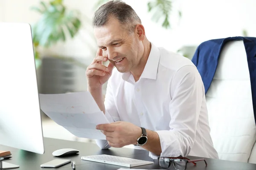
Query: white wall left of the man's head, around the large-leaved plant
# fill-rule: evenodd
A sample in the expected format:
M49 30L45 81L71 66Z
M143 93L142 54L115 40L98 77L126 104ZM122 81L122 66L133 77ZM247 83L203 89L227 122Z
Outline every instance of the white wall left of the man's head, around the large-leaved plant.
M30 7L38 6L40 1L41 0L0 0L0 22L35 23L40 16L36 11L32 11ZM44 1L49 2L49 0ZM93 15L94 1L64 0L64 3L67 8L76 9L81 12L83 26L76 38L68 40L66 43L60 42L52 48L44 50L43 54L58 54L79 58L95 57L97 46L90 23L90 18L92 18Z

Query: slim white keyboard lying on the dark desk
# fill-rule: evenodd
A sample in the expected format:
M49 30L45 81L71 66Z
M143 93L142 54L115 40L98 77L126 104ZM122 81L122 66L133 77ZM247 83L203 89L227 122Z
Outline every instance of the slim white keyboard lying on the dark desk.
M104 164L113 164L113 165L118 165L122 167L136 167L136 166L141 166L146 164L154 164L154 162L151 162L151 161L143 161L139 159L131 159L131 158L125 158L120 156L112 156L112 155L82 156L81 159L86 161L100 162Z

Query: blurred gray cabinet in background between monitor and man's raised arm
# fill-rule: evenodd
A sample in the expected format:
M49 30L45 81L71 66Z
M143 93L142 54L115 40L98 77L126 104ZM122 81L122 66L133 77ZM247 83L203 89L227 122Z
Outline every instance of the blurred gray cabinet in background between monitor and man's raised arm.
M84 62L84 61L81 61ZM40 93L63 94L87 90L86 68L66 59L44 57L40 68Z

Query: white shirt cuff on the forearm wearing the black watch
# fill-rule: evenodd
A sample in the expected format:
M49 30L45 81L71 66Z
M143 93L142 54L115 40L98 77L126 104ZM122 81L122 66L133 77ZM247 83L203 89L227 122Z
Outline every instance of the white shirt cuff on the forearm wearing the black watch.
M177 139L177 136L174 133L171 133L169 130L159 130L157 132L160 144L161 144L161 157L179 157L184 156L182 149L180 147L180 142ZM152 155L153 153L151 153ZM152 155L156 156L156 155Z

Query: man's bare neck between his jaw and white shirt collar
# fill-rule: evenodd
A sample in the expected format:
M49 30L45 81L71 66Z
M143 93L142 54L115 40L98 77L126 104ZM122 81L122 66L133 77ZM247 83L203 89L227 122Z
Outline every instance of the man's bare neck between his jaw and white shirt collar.
M134 76L135 82L137 82L140 79L140 76L143 73L145 65L148 61L148 56L150 54L150 51L151 51L151 43L148 40L145 40L144 52L140 60L140 63L137 65L137 68L135 68L134 71L131 71L131 74Z

